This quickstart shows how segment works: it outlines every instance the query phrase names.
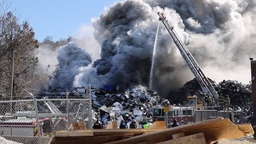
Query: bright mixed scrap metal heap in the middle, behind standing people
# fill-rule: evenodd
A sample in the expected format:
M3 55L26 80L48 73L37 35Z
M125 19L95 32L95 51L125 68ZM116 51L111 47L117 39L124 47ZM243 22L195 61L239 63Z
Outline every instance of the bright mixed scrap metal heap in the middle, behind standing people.
M74 88L74 91L78 92L78 89ZM92 88L91 93L92 110L100 114L95 118L106 125L121 119L126 122L132 121L132 118L137 121L150 121L152 119L150 109L153 106L170 104L167 99L160 98L156 92L141 89L129 89L118 93L113 86L107 85L101 89Z

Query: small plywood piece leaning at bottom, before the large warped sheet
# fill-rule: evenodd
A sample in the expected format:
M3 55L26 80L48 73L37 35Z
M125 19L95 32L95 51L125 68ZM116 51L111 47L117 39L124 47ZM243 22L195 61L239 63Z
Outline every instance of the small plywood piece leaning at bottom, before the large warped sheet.
M175 140L160 142L158 144L205 144L205 137L203 136L203 133L184 136Z

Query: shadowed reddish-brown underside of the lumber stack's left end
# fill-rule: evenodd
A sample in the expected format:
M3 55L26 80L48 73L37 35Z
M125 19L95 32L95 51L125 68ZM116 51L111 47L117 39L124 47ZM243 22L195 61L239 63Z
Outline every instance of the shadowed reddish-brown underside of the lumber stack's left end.
M54 137L54 139L51 141L51 144L70 144L70 143L76 143L76 144L84 144L84 143L104 143L109 141L115 141L115 140L123 140L126 139L126 137L131 137L133 134L129 135L106 135L106 136L94 136L94 137L76 137L75 139L73 137Z

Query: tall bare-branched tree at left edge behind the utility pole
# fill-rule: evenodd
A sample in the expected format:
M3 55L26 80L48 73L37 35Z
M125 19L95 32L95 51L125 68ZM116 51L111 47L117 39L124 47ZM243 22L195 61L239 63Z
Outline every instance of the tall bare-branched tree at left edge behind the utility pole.
M17 17L8 12L1 16L0 23L0 91L8 92L11 71L11 52L15 51L13 93L24 91L34 79L38 58L34 50L38 41L28 22L20 24Z

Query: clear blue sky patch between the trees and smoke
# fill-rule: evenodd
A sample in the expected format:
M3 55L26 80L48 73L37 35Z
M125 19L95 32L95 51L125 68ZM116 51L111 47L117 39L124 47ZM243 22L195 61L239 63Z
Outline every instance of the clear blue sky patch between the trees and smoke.
M42 41L47 35L59 40L70 35L81 37L84 32L90 34L91 17L100 16L104 7L110 7L118 1L13 0L11 7L18 11L21 21L30 23L36 39Z

